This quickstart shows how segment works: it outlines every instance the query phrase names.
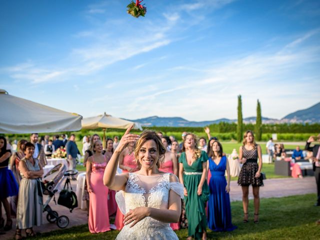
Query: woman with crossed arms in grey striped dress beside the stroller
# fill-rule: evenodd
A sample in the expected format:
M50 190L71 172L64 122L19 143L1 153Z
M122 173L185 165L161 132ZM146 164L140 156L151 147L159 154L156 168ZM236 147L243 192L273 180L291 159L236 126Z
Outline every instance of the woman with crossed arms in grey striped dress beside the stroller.
M19 186L19 197L16 209L15 239L21 239L21 229L25 229L26 236L35 236L33 225L42 224L42 189L40 177L42 166L33 158L34 145L25 143L25 156L19 161L19 171L22 176Z

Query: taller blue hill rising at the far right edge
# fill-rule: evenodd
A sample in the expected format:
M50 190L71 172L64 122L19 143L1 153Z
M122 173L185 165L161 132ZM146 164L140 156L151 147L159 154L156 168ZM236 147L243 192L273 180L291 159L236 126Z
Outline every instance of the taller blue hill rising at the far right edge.
M284 116L286 122L320 122L320 102L306 109L297 110Z

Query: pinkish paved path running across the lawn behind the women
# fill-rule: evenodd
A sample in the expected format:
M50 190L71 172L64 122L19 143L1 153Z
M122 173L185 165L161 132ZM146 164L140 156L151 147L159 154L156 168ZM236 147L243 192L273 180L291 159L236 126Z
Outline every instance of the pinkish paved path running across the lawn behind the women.
M72 188L75 189L76 184L72 181ZM231 201L241 200L242 192L241 187L237 185L236 181L231 181L230 183L230 199ZM316 184L314 177L307 176L302 179L298 178L274 178L264 180L264 186L260 187L260 197L282 197L289 195L299 195L306 193L315 193ZM56 199L58 194L56 193ZM44 196L46 199L46 196ZM249 188L249 198L252 199L252 188ZM44 199L44 200L45 200ZM81 209L74 209L71 213L69 210L61 205L54 205L53 200L49 203L53 210L57 211L59 215L66 215L69 217L70 223L68 227L86 224L88 222L88 217L86 211ZM4 215L4 209L2 207L2 212ZM13 219L13 228L15 226L15 219ZM47 232L55 229L59 229L55 223L48 223L46 220L46 213L43 214L43 224L38 227L34 227L35 231ZM12 239L14 237L15 230L12 229L7 231L6 234L0 235L2 240ZM24 232L22 233L24 235Z

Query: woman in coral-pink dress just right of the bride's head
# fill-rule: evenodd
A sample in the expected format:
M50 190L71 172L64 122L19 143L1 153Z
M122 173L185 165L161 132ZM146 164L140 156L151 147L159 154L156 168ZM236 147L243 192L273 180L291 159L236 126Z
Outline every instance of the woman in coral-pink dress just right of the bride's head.
M173 152L168 150L168 145L171 144L171 140L168 136L161 137L162 144L165 148L164 158L160 162L159 171L173 173L174 175L178 174L178 161ZM180 228L179 222L170 223L170 227L173 230L178 230Z

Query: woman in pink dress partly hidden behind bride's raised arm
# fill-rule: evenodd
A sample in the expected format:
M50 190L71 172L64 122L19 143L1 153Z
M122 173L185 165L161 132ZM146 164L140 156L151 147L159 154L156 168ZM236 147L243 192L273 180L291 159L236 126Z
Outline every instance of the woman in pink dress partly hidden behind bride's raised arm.
M133 154L134 143L131 142L127 145L126 148L119 155L119 168L122 169L122 172L134 172L139 170L135 157ZM124 215L121 213L120 209L117 207L114 225L117 230L121 230L124 226L123 223Z

